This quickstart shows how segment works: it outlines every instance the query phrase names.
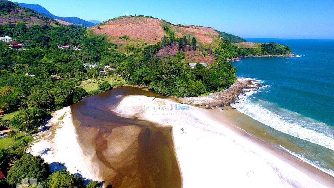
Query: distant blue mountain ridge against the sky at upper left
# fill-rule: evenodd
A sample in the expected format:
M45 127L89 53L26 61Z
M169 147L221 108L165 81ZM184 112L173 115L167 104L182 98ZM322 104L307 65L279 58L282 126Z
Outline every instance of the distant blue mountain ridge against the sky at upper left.
M84 25L86 27L92 27L94 25L97 25L99 23L101 23L100 21L97 20L92 20L92 21L86 21L83 20L81 18L77 18L77 17L59 17L59 16L55 16L53 15L51 12L49 12L48 10L46 10L46 8L40 6L40 5L33 5L33 4L26 4L26 3L16 3L19 6L22 7L27 7L30 8L38 13L41 13L47 17L53 18L53 19L60 19L63 20L65 22L69 22L69 23L73 23L73 24L77 24L77 25Z

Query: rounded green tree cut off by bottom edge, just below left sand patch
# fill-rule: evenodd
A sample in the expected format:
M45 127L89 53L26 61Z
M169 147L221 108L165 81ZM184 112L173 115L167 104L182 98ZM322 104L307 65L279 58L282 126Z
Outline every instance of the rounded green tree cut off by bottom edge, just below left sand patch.
M66 170L52 173L47 179L48 188L82 188L82 181Z

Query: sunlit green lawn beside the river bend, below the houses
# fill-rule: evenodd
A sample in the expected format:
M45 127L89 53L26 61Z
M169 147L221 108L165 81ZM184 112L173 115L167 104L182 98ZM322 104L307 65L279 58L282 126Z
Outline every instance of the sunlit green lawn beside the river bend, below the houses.
M80 87L86 90L88 94L91 94L93 91L99 90L98 82L108 81L113 87L125 84L125 81L123 80L123 78L120 78L120 77L106 76L104 78L105 80L100 80L100 81L97 81L97 80L94 80L91 82L83 81L81 82Z

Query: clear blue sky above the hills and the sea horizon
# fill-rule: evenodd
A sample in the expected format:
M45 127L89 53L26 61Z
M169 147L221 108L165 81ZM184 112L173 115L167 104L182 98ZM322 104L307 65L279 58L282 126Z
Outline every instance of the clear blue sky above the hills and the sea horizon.
M61 17L106 21L142 14L203 25L241 37L334 39L334 0L13 0Z

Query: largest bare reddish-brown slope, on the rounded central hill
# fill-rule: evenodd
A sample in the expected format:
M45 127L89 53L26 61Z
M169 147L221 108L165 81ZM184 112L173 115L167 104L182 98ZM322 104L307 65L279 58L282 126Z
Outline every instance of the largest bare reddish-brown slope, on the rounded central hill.
M111 20L105 25L93 27L96 34L106 33L109 36L123 36L141 38L148 43L156 43L164 36L160 21L154 18L123 17Z

